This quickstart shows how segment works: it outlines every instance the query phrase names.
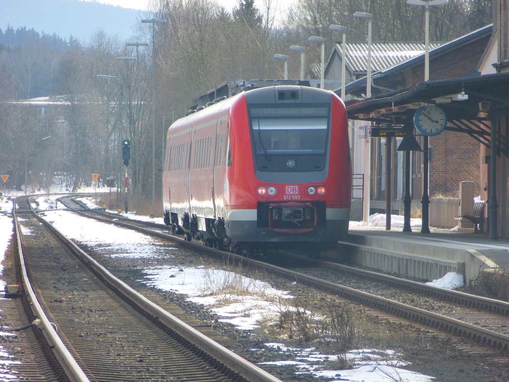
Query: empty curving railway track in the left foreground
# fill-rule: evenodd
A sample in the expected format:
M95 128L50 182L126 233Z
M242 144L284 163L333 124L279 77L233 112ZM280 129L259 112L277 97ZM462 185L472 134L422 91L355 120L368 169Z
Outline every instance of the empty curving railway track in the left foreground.
M15 205L19 261L26 265L22 294L33 289L29 305L44 310L34 313L43 323L33 330L53 349L45 361L53 365L52 375L30 380L280 380L168 313L177 307L159 307L116 279L36 216L27 199L16 199Z

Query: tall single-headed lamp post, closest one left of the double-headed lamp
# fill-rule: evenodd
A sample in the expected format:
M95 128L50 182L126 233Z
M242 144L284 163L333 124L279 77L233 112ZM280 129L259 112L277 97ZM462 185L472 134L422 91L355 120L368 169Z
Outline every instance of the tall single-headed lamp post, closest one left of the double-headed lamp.
M366 97L371 97L371 13L355 12L353 17L367 20L367 68L366 68ZM364 144L364 188L362 196L362 220L370 222L370 199L371 199L371 141L369 134Z

